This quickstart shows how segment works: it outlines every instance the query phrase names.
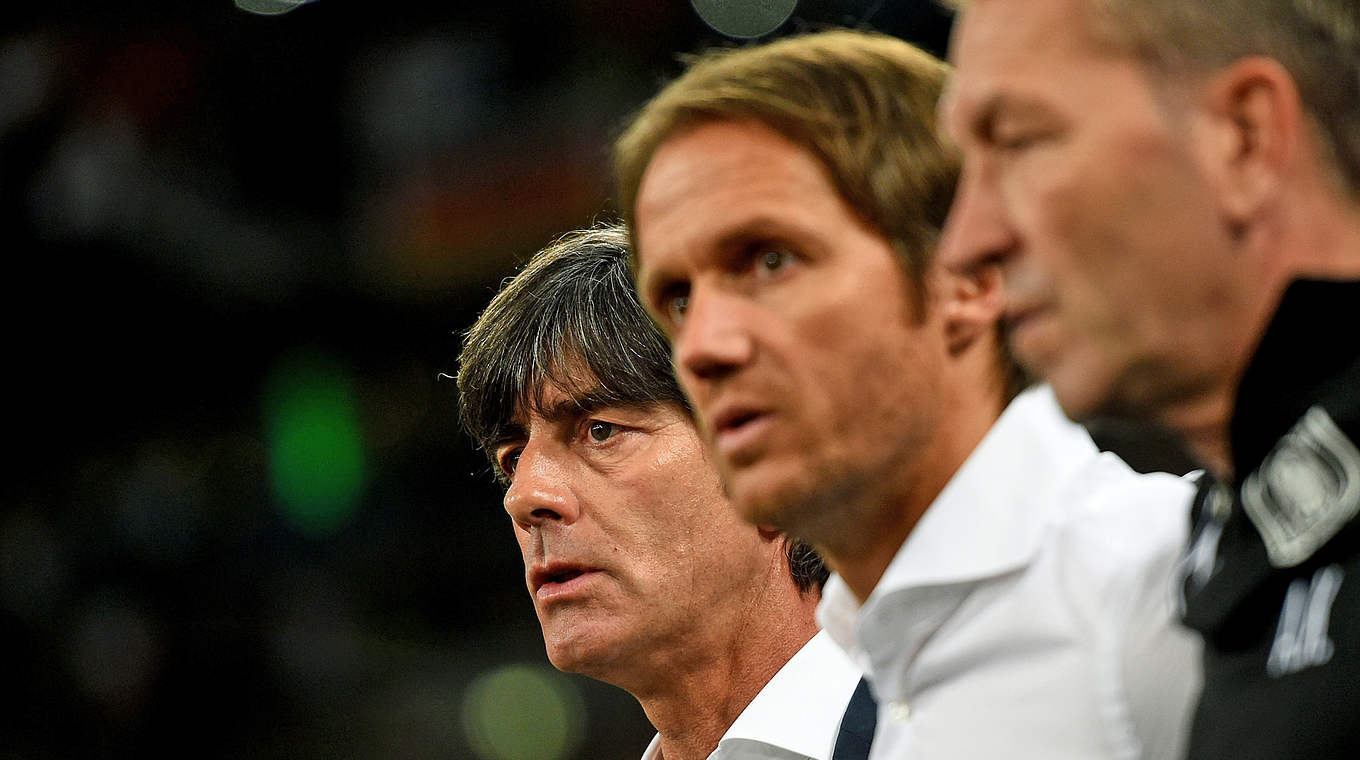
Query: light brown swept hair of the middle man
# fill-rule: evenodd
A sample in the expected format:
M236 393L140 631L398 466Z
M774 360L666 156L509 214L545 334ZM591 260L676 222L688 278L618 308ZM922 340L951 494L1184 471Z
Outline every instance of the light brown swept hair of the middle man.
M923 296L959 178L959 158L936 129L947 73L947 64L925 50L853 30L699 54L615 143L620 208L634 219L651 156L679 132L756 120L821 162L846 203L892 245Z

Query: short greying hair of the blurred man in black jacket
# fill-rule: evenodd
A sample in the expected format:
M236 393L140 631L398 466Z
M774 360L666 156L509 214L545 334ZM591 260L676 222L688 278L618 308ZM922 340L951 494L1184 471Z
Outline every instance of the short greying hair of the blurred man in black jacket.
M1093 30L1176 83L1248 56L1299 87L1323 160L1360 200L1360 3L1356 0L1087 0ZM942 0L967 10L972 0Z

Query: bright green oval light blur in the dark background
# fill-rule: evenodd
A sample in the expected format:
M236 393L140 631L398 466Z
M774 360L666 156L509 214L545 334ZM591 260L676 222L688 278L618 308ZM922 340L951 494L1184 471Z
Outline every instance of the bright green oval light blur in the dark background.
M354 515L364 458L350 373L317 352L288 356L264 394L275 500L305 536L325 537Z

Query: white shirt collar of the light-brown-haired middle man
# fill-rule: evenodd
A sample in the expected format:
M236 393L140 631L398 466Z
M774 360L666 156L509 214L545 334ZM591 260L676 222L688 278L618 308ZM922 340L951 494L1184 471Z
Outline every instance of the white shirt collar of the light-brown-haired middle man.
M1068 420L1053 389L1016 397L949 479L892 557L872 608L906 589L947 586L1024 567L1039 548L1053 489L1096 451L1091 436ZM860 601L839 575L821 593L817 620L858 659Z

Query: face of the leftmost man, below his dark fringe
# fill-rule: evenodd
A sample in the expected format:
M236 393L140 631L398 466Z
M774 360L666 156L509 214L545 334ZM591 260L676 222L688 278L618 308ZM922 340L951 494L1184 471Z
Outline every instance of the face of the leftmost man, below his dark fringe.
M684 412L544 407L495 455L548 659L622 685L737 625L782 541L732 514Z

